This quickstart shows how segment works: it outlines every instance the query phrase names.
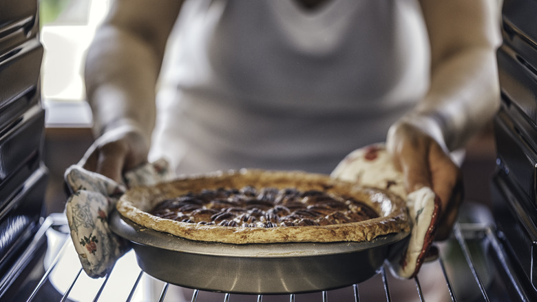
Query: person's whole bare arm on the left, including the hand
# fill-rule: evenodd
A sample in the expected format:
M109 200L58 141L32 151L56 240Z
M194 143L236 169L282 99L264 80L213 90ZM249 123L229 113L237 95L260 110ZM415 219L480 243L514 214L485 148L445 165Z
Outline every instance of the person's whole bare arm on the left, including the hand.
M87 52L85 86L98 137L81 160L116 181L147 161L156 82L182 1L116 0Z

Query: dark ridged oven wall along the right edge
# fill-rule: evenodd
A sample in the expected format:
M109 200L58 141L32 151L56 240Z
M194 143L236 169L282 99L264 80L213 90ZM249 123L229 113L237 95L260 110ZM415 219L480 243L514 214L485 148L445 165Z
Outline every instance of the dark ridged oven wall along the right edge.
M493 212L529 288L537 289L537 1L505 0Z

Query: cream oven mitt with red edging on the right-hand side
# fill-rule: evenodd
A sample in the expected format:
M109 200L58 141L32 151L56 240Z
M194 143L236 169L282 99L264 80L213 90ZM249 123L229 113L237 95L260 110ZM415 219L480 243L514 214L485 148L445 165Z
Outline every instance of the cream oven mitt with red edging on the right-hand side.
M330 176L359 185L388 189L406 201L412 230L406 245L394 245L401 250L392 251L388 260L390 270L395 276L403 279L414 277L434 239L440 211L440 200L436 194L426 187L407 194L403 174L394 167L383 143L368 145L351 152Z

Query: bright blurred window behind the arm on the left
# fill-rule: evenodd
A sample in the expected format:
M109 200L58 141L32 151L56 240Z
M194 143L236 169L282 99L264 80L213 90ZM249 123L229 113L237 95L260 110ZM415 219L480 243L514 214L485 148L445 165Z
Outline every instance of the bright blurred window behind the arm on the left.
M90 123L85 103L85 52L108 10L108 0L41 0L42 99L48 124Z

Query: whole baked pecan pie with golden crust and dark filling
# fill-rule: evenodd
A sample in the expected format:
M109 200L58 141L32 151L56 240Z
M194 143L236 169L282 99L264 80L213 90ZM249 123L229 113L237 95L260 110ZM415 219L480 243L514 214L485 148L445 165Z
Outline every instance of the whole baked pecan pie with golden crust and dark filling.
M370 241L408 232L405 203L324 174L238 170L127 191L116 208L145 228L195 241Z

